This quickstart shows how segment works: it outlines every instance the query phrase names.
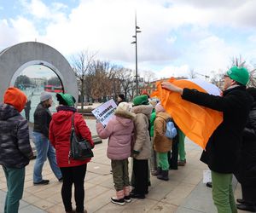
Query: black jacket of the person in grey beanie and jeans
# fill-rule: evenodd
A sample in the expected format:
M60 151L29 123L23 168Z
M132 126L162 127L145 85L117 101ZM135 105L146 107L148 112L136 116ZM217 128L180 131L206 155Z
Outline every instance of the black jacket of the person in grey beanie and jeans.
M44 108L42 103L38 104L34 112L34 129L33 131L43 134L49 138L49 123L51 121L51 113L48 108Z

